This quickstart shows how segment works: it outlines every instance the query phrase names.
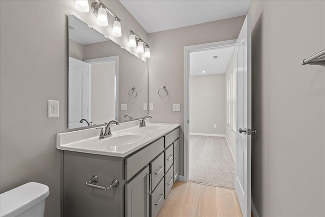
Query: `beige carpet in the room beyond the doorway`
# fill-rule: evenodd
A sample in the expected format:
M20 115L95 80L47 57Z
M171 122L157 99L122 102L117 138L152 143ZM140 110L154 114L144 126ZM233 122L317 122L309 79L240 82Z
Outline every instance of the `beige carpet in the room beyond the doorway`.
M235 189L235 163L224 137L189 136L189 180Z

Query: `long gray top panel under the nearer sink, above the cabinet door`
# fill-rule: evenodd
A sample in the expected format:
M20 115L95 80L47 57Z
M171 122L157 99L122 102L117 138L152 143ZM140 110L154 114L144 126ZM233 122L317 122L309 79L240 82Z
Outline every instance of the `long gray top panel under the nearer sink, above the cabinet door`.
M160 152L164 150L164 138L150 144L141 151L125 159L125 179L128 180L149 164Z

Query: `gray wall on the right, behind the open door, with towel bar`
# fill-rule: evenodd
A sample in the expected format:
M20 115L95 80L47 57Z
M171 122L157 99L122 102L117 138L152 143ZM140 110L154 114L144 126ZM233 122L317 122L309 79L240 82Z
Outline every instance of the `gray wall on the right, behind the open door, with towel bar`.
M325 1L252 1L252 199L259 216L325 216Z

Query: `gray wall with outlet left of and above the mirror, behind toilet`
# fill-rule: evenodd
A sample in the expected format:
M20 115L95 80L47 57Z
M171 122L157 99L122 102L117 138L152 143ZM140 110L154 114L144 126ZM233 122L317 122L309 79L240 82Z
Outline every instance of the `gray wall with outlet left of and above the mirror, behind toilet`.
M103 2L123 20L115 41L125 46L129 29L147 39L119 1ZM48 185L46 216L60 215L56 134L68 131L68 12L95 23L91 9L79 12L74 3L0 1L0 192L29 181ZM59 100L58 118L47 118L47 100Z

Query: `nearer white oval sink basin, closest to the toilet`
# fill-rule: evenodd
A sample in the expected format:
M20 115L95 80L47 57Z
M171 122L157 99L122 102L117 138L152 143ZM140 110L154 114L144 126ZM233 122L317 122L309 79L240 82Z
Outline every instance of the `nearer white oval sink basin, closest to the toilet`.
M117 145L128 145L136 142L140 142L146 136L143 134L116 134L112 137L101 139L100 145L102 146L117 146Z

